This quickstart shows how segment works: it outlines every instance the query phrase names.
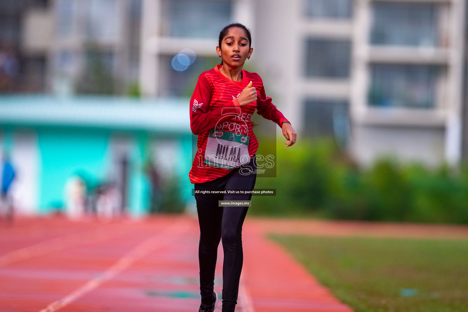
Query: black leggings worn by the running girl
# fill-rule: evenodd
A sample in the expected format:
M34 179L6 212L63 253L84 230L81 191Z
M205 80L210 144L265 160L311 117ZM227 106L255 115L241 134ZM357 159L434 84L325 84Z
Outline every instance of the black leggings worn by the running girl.
M246 174L248 173L248 174ZM255 155L249 164L235 168L229 174L205 183L195 183L195 189L253 189L256 180ZM251 195L199 196L197 201L200 224L200 294L203 305L213 300L214 269L219 240L224 251L223 312L234 312L237 304L239 280L242 270L242 224L249 207L219 207L219 200L250 200Z

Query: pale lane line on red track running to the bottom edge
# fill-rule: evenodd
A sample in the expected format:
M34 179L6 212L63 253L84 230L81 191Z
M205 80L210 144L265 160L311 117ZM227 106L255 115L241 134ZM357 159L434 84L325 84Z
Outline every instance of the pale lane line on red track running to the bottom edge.
M62 299L52 302L45 309L42 309L40 312L54 312L64 306L72 303L79 297L83 296L87 292L99 287L102 282L112 279L114 276L122 272L125 268L128 268L132 265L133 262L141 259L156 248L164 247L176 238L180 237L182 234L189 230L190 224L185 221L177 221L176 224L171 225L167 230L146 239L137 247L133 248L130 252L125 254L120 258L114 265L105 270L100 276L95 277L94 279L88 281L86 284L63 297Z

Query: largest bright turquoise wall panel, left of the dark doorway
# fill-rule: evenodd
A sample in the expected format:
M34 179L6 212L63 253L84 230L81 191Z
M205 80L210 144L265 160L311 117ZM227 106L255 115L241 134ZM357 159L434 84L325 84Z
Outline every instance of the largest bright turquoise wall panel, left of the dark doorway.
M38 131L41 172L39 212L65 205L66 181L86 174L95 181L106 177L110 164L109 132L55 129Z

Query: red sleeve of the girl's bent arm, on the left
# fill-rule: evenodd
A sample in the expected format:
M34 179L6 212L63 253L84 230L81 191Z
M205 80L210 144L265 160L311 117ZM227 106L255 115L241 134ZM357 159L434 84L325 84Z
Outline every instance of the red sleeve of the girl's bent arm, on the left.
M237 99L232 100L226 106L209 109L212 87L210 82L201 74L190 99L190 129L193 134L201 134L216 127L216 124L241 115L241 107Z

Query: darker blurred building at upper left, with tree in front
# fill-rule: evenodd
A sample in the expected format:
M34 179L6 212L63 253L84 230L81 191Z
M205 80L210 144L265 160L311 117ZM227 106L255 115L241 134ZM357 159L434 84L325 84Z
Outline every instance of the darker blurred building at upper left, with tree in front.
M141 0L3 0L0 16L2 46L24 63L4 92L114 94L138 82Z

